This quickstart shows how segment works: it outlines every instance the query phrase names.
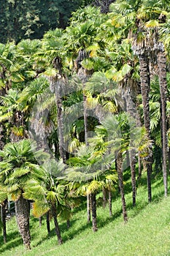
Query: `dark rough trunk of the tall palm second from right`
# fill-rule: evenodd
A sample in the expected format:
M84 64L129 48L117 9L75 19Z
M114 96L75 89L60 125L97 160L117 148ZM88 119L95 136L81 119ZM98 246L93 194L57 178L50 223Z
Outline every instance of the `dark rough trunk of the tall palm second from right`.
M144 113L144 127L147 130L147 136L150 139L150 105L149 105L149 93L150 93L150 69L149 60L145 53L139 56L140 64L140 80L141 80L141 92L142 92L142 103ZM152 200L151 190L151 173L152 173L152 150L149 148L149 154L145 157L147 165L147 192L148 202Z

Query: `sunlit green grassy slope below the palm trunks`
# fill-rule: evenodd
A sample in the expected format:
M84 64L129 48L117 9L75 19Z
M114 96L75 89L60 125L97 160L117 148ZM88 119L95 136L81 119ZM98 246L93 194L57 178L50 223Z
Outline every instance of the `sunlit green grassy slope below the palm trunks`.
M97 233L86 224L85 209L73 214L69 230L65 222L60 222L62 246L57 244L53 222L52 233L48 236L45 220L39 227L39 221L31 218L32 250L26 252L14 218L7 222L7 245L3 245L2 238L0 240L0 255L170 255L170 197L163 198L163 181L155 179L152 183L153 202L148 205L145 178L143 181L137 189L135 209L131 206L130 181L125 184L128 224L123 224L120 197L115 197L112 204L112 218L109 218L108 208L98 207Z

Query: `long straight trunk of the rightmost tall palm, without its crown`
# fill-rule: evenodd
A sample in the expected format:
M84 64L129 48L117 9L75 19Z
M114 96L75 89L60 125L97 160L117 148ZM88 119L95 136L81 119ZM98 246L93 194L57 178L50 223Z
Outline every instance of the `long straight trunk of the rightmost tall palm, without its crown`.
M167 181L167 138L166 138L166 55L164 50L158 53L158 67L159 67L159 86L161 94L161 138L162 138L162 155L163 155L163 184L164 195L168 195L168 181Z

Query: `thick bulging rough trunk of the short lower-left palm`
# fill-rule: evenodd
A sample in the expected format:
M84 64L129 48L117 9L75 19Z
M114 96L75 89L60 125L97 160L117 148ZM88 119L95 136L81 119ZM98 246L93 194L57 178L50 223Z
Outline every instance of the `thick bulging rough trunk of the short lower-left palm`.
M23 238L23 244L26 249L31 249L31 236L29 230L29 202L20 195L18 200L15 201L15 214L18 223L20 235Z

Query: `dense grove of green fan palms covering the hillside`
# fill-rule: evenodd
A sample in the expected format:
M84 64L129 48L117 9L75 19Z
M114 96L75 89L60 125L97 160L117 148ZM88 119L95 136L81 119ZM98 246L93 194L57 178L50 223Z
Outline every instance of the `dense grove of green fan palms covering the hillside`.
M96 195L109 202L130 166L132 204L136 176L169 167L169 1L115 1L109 12L87 6L72 13L66 29L42 39L0 44L0 200L15 201L23 244L31 249L30 209L58 216L70 226L72 209L87 203L87 222L97 227ZM126 165L125 165L126 163Z

